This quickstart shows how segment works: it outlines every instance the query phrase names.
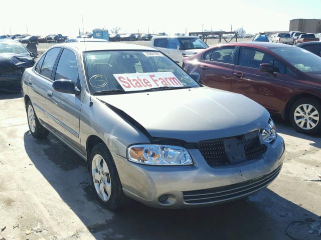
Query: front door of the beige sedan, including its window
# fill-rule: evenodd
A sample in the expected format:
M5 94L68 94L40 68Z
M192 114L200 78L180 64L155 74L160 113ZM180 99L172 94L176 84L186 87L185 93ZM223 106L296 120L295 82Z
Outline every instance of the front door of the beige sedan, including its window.
M64 48L56 64L56 70L52 76L53 81L69 79L81 89L75 52ZM46 100L48 121L52 130L77 149L80 149L79 115L83 94L58 92L50 83Z

